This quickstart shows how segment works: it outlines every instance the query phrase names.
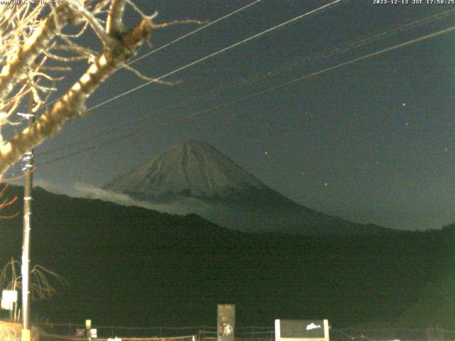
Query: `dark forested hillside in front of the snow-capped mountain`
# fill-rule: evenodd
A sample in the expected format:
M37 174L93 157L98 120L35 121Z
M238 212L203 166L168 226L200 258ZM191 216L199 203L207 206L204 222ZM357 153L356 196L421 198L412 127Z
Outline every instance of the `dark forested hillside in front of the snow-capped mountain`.
M9 188L11 197L21 188ZM455 327L455 227L375 237L246 234L172 216L34 190L32 259L68 281L35 318L100 324L239 325L329 318ZM21 202L4 215L21 212ZM21 252L21 217L0 221L0 262Z

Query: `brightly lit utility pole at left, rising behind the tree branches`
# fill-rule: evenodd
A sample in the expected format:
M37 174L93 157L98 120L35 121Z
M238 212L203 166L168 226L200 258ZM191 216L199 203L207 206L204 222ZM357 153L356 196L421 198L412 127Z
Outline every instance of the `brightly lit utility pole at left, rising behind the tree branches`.
M33 95L28 102L28 126L35 121L32 114ZM21 341L30 341L30 216L31 216L31 191L33 186L33 150L25 154L23 158L24 171L26 172L25 184L23 185L23 242L22 242L22 337Z

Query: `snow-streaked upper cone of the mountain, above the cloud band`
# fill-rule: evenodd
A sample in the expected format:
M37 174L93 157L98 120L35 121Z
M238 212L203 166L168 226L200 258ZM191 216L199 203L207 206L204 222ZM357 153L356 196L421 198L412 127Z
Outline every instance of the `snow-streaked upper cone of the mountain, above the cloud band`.
M267 186L213 146L190 140L146 161L106 189L156 200L172 196L221 199Z

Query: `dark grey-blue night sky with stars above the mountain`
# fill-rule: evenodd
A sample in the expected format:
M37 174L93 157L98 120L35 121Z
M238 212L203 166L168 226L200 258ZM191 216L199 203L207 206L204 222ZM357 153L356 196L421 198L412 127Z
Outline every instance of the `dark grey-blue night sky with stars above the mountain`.
M159 11L156 22L213 21L250 2L135 1L146 13ZM132 66L159 77L329 2L263 0ZM397 28L442 11L453 13ZM127 16L129 26L139 20ZM148 85L70 122L36 148L36 184L73 195L74 183L105 185L174 144L197 139L314 210L398 229L441 228L455 222L455 31L206 110L451 26L455 5L347 1L166 78L178 85ZM153 47L138 56L196 28L155 31ZM386 31L393 34L317 57ZM84 67L75 64L60 89ZM144 82L119 70L87 107Z

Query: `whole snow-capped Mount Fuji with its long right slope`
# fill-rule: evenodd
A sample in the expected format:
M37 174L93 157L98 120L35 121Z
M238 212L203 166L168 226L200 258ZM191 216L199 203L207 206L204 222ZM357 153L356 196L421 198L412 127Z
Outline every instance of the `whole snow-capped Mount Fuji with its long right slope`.
M105 190L156 204L164 212L196 213L245 232L367 235L397 232L357 224L297 204L255 178L218 149L186 141L146 161Z

